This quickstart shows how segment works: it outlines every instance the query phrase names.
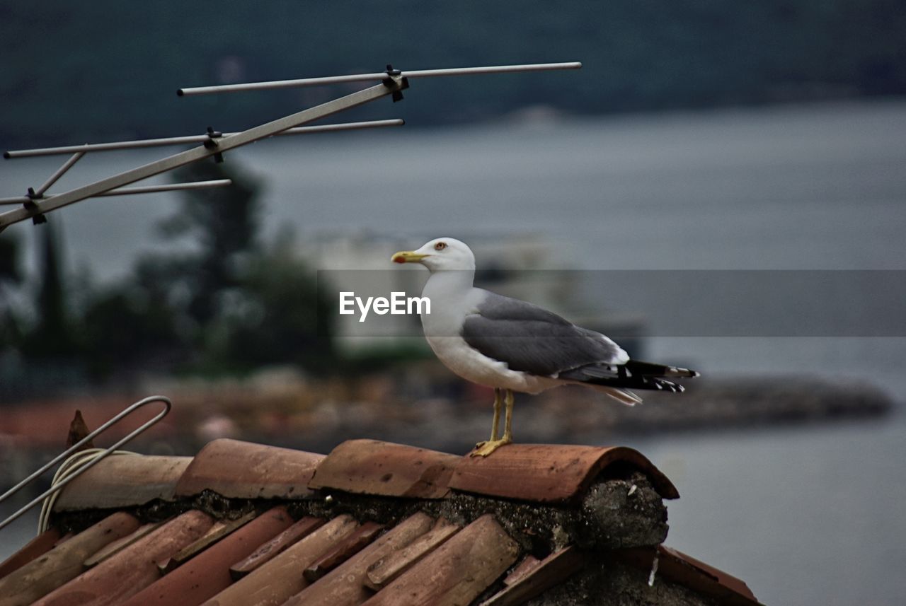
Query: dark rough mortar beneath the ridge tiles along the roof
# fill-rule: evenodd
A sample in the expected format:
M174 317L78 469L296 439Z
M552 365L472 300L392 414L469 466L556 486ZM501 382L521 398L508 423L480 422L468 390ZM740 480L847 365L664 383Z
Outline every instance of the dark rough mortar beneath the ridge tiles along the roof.
M632 486L636 489L632 490ZM632 494L630 495L630 491ZM327 502L327 496L332 497ZM217 519L235 519L249 511L265 511L284 503L289 513L332 518L349 514L360 522L393 526L417 511L445 517L460 526L493 514L506 533L528 553L546 555L565 544L590 550L610 550L660 544L667 536L667 508L651 482L639 472L627 478L599 478L575 506L542 505L507 499L453 494L436 500L353 495L323 490L316 498L297 501L221 497L206 490L175 502L154 501L126 509L144 522L157 522L198 509ZM93 510L56 514L54 524L81 532L110 512Z

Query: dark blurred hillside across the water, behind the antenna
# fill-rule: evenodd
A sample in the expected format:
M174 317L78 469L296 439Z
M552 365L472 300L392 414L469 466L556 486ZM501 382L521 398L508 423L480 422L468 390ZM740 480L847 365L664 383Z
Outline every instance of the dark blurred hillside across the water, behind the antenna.
M387 62L402 69L584 63L579 77L419 80L403 112L411 126L536 105L593 114L899 95L906 93L904 31L906 8L896 0L532 0L516 7L7 0L0 2L0 145L246 128L346 90L206 99L178 99L175 90L379 71ZM360 117L388 112L381 104Z

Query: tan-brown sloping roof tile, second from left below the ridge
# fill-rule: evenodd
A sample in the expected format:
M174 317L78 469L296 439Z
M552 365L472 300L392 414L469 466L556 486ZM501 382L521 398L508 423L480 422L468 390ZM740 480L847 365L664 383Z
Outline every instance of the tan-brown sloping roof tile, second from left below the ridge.
M122 511L105 517L0 579L0 606L30 604L43 598L81 574L85 558L138 527L139 520Z

